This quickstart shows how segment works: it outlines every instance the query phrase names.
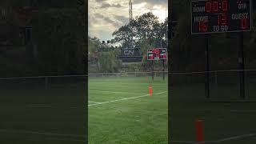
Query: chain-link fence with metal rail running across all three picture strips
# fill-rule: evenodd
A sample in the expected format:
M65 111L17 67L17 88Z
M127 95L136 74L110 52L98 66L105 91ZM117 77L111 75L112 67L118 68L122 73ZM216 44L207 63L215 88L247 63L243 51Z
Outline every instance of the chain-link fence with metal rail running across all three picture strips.
M256 100L256 70L212 70L197 72L168 72L168 71L150 71L150 72L123 72L123 73L98 73L88 75L62 75L62 76L38 76L24 78L0 78L0 89L58 89L58 88L85 88L87 78L98 81L116 78L122 81L123 78L154 78L162 80L165 76L171 79L171 89L174 91L182 87L182 91L188 94L193 90L197 91L197 96L206 98L206 76L209 75L209 94L210 98L220 100L242 99L240 74L244 73L244 93L246 100ZM90 81L89 81L90 83ZM177 89L176 89L177 88ZM187 90L186 90L187 89ZM190 91L192 90L192 91ZM173 95L175 97L175 95Z

